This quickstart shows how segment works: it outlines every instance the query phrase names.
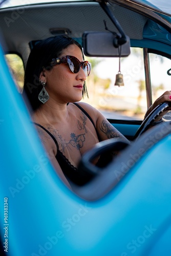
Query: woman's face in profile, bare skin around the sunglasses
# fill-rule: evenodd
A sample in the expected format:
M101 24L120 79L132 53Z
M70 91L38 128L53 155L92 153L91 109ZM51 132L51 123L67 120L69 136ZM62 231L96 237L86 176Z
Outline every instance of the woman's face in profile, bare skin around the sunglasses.
M75 56L79 61L83 61L82 52L77 45L70 45L63 49L62 54L58 57L66 55ZM45 89L50 96L50 100L58 103L68 103L81 100L86 75L82 68L78 73L72 73L68 63L61 63L54 66L50 71L41 72L40 80L46 82Z

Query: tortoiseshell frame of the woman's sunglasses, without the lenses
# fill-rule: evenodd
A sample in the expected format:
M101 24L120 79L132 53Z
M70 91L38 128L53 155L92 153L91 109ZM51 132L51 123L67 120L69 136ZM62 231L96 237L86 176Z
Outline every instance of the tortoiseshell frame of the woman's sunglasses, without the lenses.
M70 63L69 63L69 60L72 59L72 58L74 58L75 60L77 60L77 62L79 63L79 68L78 68L77 71L75 71L75 72L71 69ZM52 66L55 66L55 65L59 65L59 64L61 64L61 63L62 63L62 64L68 63L68 66L69 66L71 72L72 72L72 73L75 73L75 74L80 71L80 68L82 68L83 71L84 71L84 64L87 63L87 64L89 65L90 72L91 72L91 67L92 67L91 63L90 63L88 60L85 60L85 61L82 61L82 62L81 62L81 61L79 61L79 59L77 59L75 56L66 55L66 56L62 56L62 57L60 57L60 58L52 59L51 65L52 65ZM73 63L73 62L72 62L72 63ZM74 63L73 63L73 65L74 65ZM74 66L74 68L75 68L75 66ZM90 75L90 72L89 72L89 74L86 74L86 72L84 72L84 74L85 74L86 76L89 76L89 75Z

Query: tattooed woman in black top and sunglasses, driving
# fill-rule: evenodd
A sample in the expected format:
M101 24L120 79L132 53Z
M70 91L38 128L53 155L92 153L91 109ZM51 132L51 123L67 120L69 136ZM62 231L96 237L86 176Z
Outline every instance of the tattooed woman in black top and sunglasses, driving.
M40 41L27 62L24 95L40 139L66 184L68 180L79 185L89 180L78 172L77 165L97 142L118 137L127 142L99 111L87 103L74 103L87 95L90 71L81 46L65 35ZM148 114L159 103L171 100L170 95L166 92L157 99Z

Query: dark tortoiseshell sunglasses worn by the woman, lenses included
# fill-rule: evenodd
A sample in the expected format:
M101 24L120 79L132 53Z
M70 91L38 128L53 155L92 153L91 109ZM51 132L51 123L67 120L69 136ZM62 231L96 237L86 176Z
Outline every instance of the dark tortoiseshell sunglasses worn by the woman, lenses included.
M76 57L67 55L61 58L52 59L51 65L55 66L61 63L68 63L68 66L73 73L78 73L80 68L82 68L86 76L90 75L91 63L87 60L80 62Z

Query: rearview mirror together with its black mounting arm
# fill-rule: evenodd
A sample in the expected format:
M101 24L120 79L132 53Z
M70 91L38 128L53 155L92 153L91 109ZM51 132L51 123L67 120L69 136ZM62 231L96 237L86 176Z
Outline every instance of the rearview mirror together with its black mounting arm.
M85 31L82 34L83 52L86 56L93 57L126 57L130 55L130 38L125 35L119 22L112 14L107 3L104 0L97 0L101 8L106 12L112 23L118 30L111 31L107 28L104 20L105 30L100 31Z

